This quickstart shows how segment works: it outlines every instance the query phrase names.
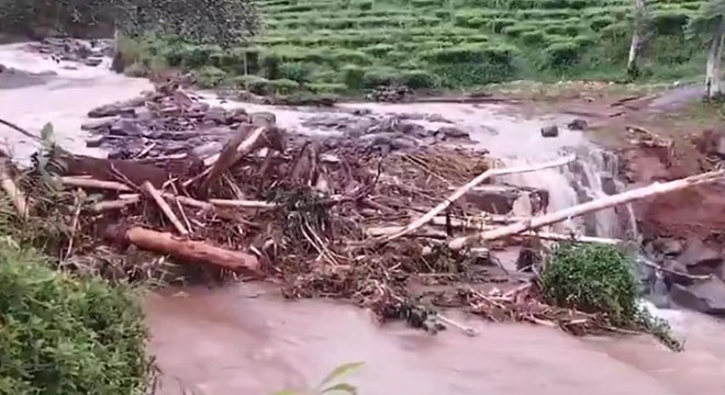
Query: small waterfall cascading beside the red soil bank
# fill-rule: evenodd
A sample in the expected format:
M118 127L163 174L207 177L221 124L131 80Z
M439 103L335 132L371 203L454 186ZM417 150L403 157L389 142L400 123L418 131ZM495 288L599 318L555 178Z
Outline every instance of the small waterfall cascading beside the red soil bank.
M551 153L548 153L548 159ZM590 202L606 195L620 193L624 183L617 179L618 158L616 155L588 146L566 148L560 155L577 156L577 160L561 168L551 168L528 173L510 174L502 181L548 191L548 213ZM504 158L506 166L540 163L545 156ZM599 236L621 239L636 239L637 227L631 205L612 207L581 217L570 218L551 227L553 232L580 236Z

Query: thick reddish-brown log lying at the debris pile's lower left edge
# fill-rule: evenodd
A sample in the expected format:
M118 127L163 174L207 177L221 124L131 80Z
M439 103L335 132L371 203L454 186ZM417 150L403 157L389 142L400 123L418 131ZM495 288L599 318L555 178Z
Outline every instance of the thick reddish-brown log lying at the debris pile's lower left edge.
M231 251L204 241L176 238L170 233L138 226L127 230L123 230L119 226L111 226L105 230L104 236L116 242L130 242L144 250L171 256L182 262L204 263L249 275L261 274L259 261L255 256Z

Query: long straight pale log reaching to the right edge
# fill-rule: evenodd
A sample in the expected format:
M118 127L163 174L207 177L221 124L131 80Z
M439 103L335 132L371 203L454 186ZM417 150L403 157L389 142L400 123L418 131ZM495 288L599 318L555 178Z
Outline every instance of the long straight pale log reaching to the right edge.
M494 240L502 237L520 234L529 229L536 229L542 226L556 224L561 221L610 208L615 205L627 204L645 198L680 191L694 185L712 183L723 178L723 176L725 176L725 170L717 170L665 183L656 182L648 187L605 196L569 208L560 210L558 212L540 215L526 221L521 221L512 225L484 230L476 235L458 237L448 242L448 247L450 249L457 250L480 241Z

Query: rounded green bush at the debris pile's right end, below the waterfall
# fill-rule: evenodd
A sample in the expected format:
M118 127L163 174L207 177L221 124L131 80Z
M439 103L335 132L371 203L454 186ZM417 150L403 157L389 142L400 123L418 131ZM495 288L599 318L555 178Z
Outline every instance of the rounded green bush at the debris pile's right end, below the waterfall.
M673 350L682 349L669 325L639 305L634 263L617 247L560 245L542 274L542 289L553 305L602 314L613 327L644 330Z

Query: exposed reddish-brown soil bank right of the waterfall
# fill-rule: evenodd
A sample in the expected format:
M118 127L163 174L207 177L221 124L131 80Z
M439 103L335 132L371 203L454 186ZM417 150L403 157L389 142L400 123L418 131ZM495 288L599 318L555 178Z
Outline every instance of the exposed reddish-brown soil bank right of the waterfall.
M702 145L720 143L725 121L716 106L706 109L696 99L698 92L692 86L657 94L573 86L559 92L556 100L534 100L521 108L529 113L557 111L589 121L588 136L618 153L621 176L634 188L712 170L720 162L721 158L704 153ZM671 147L643 145L642 134L632 132L633 126L671 142ZM716 132L715 142L703 143L707 131ZM721 233L725 229L724 192L724 185L710 184L639 202L635 205L639 228L645 235L679 238Z

